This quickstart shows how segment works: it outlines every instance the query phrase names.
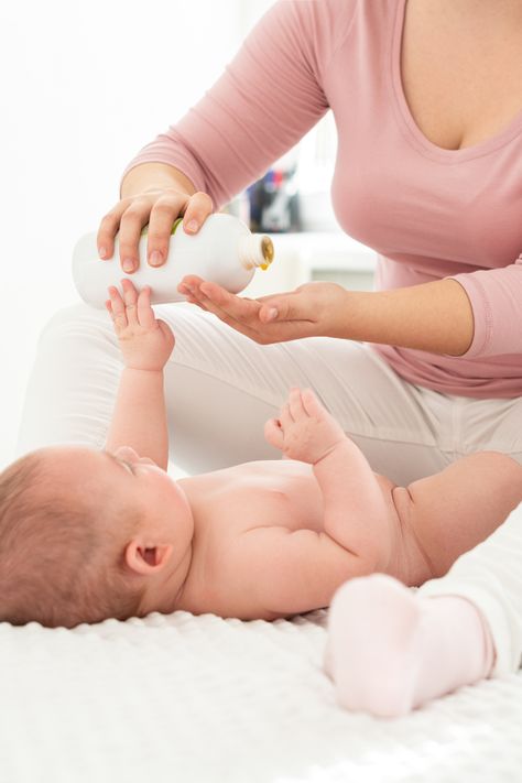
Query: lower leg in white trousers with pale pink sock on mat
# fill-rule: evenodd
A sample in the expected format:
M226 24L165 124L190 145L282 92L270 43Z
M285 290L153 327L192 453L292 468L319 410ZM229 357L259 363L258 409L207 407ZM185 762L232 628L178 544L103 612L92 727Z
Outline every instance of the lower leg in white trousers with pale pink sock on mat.
M522 657L522 503L489 537L414 595L389 577L334 597L326 668L349 709L394 716Z

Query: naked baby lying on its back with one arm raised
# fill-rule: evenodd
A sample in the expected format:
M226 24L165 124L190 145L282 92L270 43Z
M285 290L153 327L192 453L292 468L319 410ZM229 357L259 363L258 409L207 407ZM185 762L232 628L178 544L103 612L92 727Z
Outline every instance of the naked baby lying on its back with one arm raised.
M0 475L0 619L289 617L328 606L355 576L442 576L522 499L522 468L497 453L396 487L300 389L265 425L287 459L175 481L163 395L174 335L150 289L123 280L109 295L126 367L105 449L45 447Z

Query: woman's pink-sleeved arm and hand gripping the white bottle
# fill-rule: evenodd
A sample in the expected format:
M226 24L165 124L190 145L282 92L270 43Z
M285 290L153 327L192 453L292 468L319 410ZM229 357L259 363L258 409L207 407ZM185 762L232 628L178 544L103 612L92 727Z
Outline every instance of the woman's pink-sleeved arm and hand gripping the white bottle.
M296 144L328 110L323 68L356 8L355 0L275 2L205 96L129 163L120 202L98 231L100 258L112 257L119 231L122 269L134 272L149 224L148 260L161 267L180 215L188 233L197 231Z

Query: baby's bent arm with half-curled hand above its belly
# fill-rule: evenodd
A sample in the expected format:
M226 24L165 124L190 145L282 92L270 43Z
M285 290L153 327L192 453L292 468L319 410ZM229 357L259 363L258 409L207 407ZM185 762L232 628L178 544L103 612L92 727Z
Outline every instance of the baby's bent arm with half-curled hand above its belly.
M325 531L373 569L388 563L395 519L376 474L360 449L309 389L292 389L265 437L286 456L313 465L324 497Z

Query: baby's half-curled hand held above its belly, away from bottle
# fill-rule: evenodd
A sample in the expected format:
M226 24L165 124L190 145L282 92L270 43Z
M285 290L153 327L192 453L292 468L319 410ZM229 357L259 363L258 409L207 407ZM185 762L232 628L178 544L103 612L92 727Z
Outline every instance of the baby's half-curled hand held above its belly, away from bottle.
M264 425L264 437L286 457L315 465L346 439L342 428L312 389L292 389L279 418Z

